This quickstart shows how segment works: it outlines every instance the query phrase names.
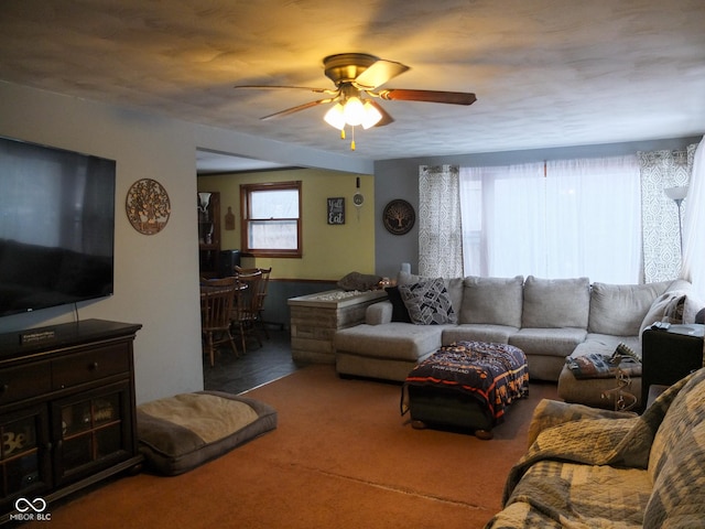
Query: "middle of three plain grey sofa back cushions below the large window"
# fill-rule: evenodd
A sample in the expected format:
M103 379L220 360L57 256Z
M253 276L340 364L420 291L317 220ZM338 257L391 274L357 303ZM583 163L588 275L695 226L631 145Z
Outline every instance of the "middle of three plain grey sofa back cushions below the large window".
M589 289L588 278L539 279L529 276L524 283L521 326L587 328Z

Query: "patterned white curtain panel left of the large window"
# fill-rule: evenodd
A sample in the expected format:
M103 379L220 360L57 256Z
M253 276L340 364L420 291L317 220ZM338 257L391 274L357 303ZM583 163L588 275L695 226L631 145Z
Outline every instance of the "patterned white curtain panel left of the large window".
M419 168L419 273L463 276L459 170L455 165Z

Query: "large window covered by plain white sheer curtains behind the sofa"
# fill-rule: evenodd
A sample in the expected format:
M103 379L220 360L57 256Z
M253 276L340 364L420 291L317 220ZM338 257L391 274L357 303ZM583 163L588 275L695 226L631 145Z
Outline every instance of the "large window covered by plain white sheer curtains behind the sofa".
M637 156L460 168L466 276L641 278Z

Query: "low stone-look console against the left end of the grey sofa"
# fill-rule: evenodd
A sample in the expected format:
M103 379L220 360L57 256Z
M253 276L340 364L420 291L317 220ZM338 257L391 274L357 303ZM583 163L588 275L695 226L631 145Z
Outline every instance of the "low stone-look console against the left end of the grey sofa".
M335 364L335 332L364 323L367 307L384 299L387 292L383 290L329 290L290 299L292 358Z

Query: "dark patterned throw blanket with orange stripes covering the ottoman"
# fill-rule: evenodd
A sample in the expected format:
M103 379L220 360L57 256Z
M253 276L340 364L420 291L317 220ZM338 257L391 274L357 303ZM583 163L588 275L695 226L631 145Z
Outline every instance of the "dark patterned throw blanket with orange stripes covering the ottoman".
M435 386L473 395L499 423L506 408L529 393L527 357L511 345L457 342L441 347L414 367L406 385Z

